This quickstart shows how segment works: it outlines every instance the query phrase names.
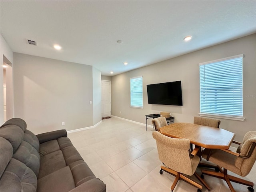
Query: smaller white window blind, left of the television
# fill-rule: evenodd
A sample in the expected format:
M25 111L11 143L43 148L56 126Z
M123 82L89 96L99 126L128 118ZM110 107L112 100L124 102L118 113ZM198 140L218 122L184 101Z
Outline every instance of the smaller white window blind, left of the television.
M142 76L130 78L131 107L143 107Z

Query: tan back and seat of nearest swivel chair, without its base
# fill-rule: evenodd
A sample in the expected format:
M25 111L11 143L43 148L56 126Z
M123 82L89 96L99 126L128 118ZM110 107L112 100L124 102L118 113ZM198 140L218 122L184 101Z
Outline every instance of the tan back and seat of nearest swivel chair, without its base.
M190 158L190 140L171 138L158 131L153 132L153 138L156 140L160 161L176 172L194 174L200 158Z

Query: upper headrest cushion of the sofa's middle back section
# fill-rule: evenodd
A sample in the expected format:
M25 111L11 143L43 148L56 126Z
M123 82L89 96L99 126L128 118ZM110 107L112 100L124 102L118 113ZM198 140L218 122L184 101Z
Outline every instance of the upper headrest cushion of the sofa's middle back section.
M1 127L0 136L12 144L13 152L15 152L22 142L24 132L16 125L6 125Z

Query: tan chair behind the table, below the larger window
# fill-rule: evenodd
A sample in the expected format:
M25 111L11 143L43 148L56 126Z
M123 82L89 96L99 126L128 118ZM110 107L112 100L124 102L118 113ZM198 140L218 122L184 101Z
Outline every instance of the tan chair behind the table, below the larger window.
M220 120L212 119L212 118L205 118L205 117L194 116L194 124L219 128ZM190 148L191 149L193 148L192 144L190 144ZM200 162L198 166L199 167L214 168L216 172L219 171L218 166L210 165L210 164L203 163L203 162Z

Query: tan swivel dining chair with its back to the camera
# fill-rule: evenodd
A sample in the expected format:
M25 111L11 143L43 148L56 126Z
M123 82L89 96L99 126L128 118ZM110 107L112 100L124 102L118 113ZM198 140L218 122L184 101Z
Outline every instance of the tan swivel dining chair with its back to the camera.
M186 177L184 174L196 176L210 190L208 184L195 172L200 161L200 158L196 155L199 147L190 152L190 140L171 138L158 131L153 132L153 138L156 140L158 157L165 165L161 166L160 174L163 174L163 171L165 171L176 176L171 186L172 191L178 180L181 179L198 188L198 192L202 192L202 185Z

